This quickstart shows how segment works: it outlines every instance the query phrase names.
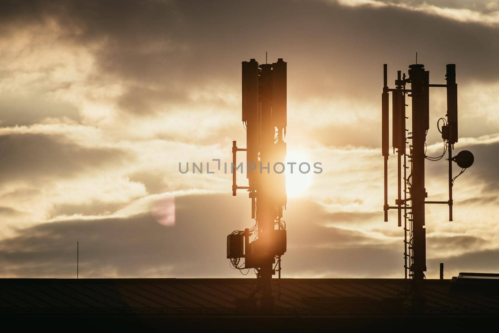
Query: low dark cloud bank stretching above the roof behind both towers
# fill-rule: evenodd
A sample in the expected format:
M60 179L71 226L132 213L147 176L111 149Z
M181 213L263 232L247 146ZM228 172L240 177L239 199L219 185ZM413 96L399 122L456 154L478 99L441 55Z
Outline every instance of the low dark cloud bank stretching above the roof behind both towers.
M283 276L403 276L402 238L399 242L362 229L326 226L353 219L355 213L329 214L303 200L288 207ZM225 235L250 227L249 208L245 197L187 195L175 198L175 223L168 226L146 212L18 228L15 235L0 241L2 276L72 277L79 241L81 277L239 277L225 259ZM437 261L445 262L449 270L451 265L457 270L476 266L476 258L467 254L463 258L442 256L443 246L469 249L484 242L468 236L432 236L428 244L429 253L436 256L428 260L431 272L427 276L434 277Z

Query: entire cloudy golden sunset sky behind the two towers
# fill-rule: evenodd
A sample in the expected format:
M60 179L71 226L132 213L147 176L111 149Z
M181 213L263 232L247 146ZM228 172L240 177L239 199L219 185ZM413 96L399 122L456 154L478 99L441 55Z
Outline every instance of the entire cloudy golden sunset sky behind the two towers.
M282 277L404 277L404 231L395 212L383 222L382 70L393 86L416 52L431 83L456 64L455 148L475 155L455 181L454 221L427 205L426 276L439 263L446 278L499 271L497 1L1 7L0 277L76 277L77 242L80 278L245 277L226 237L253 225L248 197L232 196L230 174L179 163L215 170L233 140L245 146L241 61L265 52L287 61L288 155L323 169L288 177ZM432 89L427 149L438 156L446 94ZM391 201L395 168L390 155ZM446 161L426 169L429 200L447 200Z

